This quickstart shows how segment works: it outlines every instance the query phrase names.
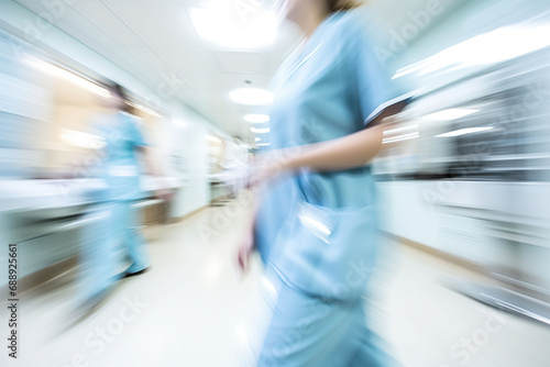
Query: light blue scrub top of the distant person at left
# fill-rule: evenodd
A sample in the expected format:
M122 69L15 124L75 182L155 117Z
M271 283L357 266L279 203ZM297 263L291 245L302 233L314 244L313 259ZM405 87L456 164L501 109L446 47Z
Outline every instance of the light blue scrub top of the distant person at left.
M117 201L143 198L136 148L146 143L134 118L124 112L107 114L98 119L94 127L106 144L99 176L106 180L108 189L100 199Z

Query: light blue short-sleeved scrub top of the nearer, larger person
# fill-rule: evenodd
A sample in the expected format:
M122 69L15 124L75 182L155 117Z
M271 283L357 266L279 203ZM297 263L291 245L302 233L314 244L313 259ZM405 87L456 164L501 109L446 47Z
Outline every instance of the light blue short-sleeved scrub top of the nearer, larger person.
M352 134L399 100L364 23L360 10L333 13L279 68L273 80L271 149ZM370 166L301 171L265 192L256 245L290 286L329 298L355 294L364 286L358 279L365 278L356 269L370 268L374 257L374 204Z

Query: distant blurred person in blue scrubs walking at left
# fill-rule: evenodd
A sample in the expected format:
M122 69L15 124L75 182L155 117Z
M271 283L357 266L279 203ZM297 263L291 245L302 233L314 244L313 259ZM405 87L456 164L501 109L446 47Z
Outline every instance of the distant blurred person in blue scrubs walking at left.
M116 280L141 275L151 266L146 243L139 232L139 215L131 207L145 197L140 184L140 160L151 174L162 177L160 159L145 143L136 119L127 112L122 87L109 85L108 90L110 97L103 101L108 112L92 122L94 135L102 142L97 176L106 188L94 193L97 204L87 214L90 224L82 230L80 300L85 307L101 301ZM170 190L163 189L156 196L168 199ZM116 255L121 246L131 265L117 274Z

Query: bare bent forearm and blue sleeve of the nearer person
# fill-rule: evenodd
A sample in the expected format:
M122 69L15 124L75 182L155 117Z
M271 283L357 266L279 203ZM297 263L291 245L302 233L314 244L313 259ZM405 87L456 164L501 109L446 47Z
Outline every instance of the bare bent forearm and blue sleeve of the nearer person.
M369 164L381 151L383 131L392 129L410 102L411 93L398 93L396 86L372 52L367 41L355 37L346 58L349 78L355 90L365 127L346 136L280 152L283 171L310 168L317 171L345 170ZM351 122L350 122L351 124Z

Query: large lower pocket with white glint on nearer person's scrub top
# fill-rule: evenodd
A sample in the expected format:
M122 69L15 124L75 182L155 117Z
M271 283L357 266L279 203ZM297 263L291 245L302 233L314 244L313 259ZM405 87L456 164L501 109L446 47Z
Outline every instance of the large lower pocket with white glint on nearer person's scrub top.
M362 296L374 264L375 205L327 208L300 201L277 237L282 278L326 299Z

